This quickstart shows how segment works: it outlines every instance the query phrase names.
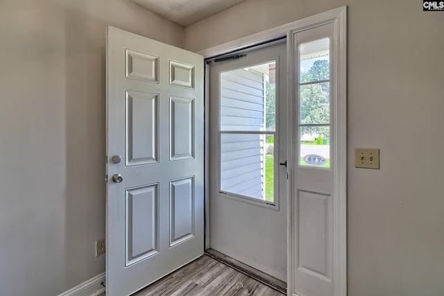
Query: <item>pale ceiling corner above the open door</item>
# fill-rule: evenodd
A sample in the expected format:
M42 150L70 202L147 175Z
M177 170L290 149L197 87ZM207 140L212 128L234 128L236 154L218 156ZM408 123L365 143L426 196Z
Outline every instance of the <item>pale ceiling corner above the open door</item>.
M131 0L186 27L245 0Z

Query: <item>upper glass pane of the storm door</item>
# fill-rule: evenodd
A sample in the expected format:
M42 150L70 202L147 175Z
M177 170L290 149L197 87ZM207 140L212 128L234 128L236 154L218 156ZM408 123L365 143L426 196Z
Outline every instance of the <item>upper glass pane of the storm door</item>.
M275 62L221 72L221 130L275 130Z

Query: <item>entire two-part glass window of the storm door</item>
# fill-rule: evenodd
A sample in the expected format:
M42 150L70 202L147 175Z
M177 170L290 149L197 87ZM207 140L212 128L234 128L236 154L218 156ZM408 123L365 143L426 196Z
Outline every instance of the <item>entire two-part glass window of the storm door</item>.
M274 202L275 64L220 73L221 193Z

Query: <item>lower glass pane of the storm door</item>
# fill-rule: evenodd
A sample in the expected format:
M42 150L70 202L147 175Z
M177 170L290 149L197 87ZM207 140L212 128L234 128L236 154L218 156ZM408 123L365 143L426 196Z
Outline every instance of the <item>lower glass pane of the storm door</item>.
M273 202L273 134L221 134L221 191Z

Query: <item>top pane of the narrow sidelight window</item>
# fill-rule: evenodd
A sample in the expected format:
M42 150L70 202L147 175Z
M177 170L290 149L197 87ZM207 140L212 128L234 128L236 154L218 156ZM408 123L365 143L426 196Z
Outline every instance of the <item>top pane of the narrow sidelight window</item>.
M299 45L300 82L330 79L330 38Z

